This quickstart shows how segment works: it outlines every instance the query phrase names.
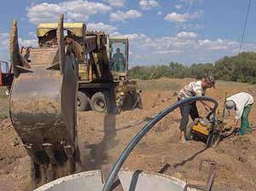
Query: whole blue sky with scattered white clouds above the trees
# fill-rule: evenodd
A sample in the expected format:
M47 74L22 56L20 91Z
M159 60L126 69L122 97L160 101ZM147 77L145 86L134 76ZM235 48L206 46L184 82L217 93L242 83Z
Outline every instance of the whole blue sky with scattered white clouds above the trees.
M131 66L178 61L214 62L238 53L247 0L3 1L0 60L9 60L9 29L18 20L20 46L36 46L39 22L84 22L88 29L130 39ZM256 2L252 0L243 51L256 50Z

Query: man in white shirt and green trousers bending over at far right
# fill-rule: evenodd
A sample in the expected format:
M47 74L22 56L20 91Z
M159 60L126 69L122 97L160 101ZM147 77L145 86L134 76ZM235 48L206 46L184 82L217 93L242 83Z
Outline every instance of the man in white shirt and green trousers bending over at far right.
M230 136L236 129L236 125L241 119L241 125L239 128L239 135L244 135L247 131L251 132L252 129L249 124L248 115L253 106L253 96L246 92L240 92L227 98L226 109L236 111L235 123L231 126L231 130L226 136Z

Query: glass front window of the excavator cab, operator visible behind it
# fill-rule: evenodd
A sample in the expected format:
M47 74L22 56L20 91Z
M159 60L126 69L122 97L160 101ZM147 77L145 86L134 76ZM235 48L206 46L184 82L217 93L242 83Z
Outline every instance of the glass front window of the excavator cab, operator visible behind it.
M110 43L110 63L113 72L125 72L126 70L126 45L125 42Z

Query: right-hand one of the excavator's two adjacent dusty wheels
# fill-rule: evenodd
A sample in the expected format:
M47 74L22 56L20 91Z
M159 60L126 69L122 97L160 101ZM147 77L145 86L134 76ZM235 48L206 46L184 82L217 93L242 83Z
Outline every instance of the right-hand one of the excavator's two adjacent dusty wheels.
M90 99L90 107L99 113L110 112L110 95L108 91L97 92Z

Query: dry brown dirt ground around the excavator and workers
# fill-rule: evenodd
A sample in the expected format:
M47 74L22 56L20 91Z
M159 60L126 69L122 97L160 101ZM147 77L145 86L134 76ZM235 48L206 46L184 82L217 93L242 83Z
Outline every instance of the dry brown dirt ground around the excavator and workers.
M153 117L177 101L175 93L189 80L161 78L139 81L143 89L143 110L126 111L117 116L78 113L79 148L84 171L113 164L131 138L146 123L143 119ZM222 105L224 92L228 91L231 95L239 90L256 97L255 86L226 82L218 82L216 90L209 90L207 95L215 97ZM6 107L7 99L2 97L0 101L0 108ZM256 123L255 116L254 106L250 115L251 123ZM217 148L206 150L202 142L190 142L189 145L178 143L179 120L177 110L156 124L131 153L124 167L204 183L207 181L208 169L199 171L199 163L201 159L214 159L218 161L214 190L256 190L256 133L231 137L220 142ZM0 123L0 190L29 189L30 159L9 119L3 119Z

